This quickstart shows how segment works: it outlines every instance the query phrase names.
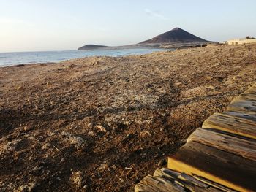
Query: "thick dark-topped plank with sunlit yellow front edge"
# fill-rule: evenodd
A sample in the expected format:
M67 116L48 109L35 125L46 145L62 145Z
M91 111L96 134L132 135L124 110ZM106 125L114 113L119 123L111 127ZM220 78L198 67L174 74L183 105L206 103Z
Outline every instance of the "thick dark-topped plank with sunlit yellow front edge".
M256 191L256 161L197 142L168 158L168 169L196 174L236 191Z

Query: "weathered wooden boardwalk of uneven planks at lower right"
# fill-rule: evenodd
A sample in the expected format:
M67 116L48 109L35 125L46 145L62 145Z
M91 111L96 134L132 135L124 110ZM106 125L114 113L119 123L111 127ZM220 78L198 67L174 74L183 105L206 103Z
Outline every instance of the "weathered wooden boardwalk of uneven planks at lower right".
M256 191L256 84L214 113L135 191Z

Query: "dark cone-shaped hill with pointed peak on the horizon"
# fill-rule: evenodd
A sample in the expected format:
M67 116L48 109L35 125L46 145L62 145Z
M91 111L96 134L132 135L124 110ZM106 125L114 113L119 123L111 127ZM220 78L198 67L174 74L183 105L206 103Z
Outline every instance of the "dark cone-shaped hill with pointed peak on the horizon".
M139 44L148 44L148 43L177 43L177 42L208 42L205 39L197 37L193 34L190 34L187 31L184 31L181 28L173 28L171 31L167 31L164 34L160 34L152 39L148 39Z

